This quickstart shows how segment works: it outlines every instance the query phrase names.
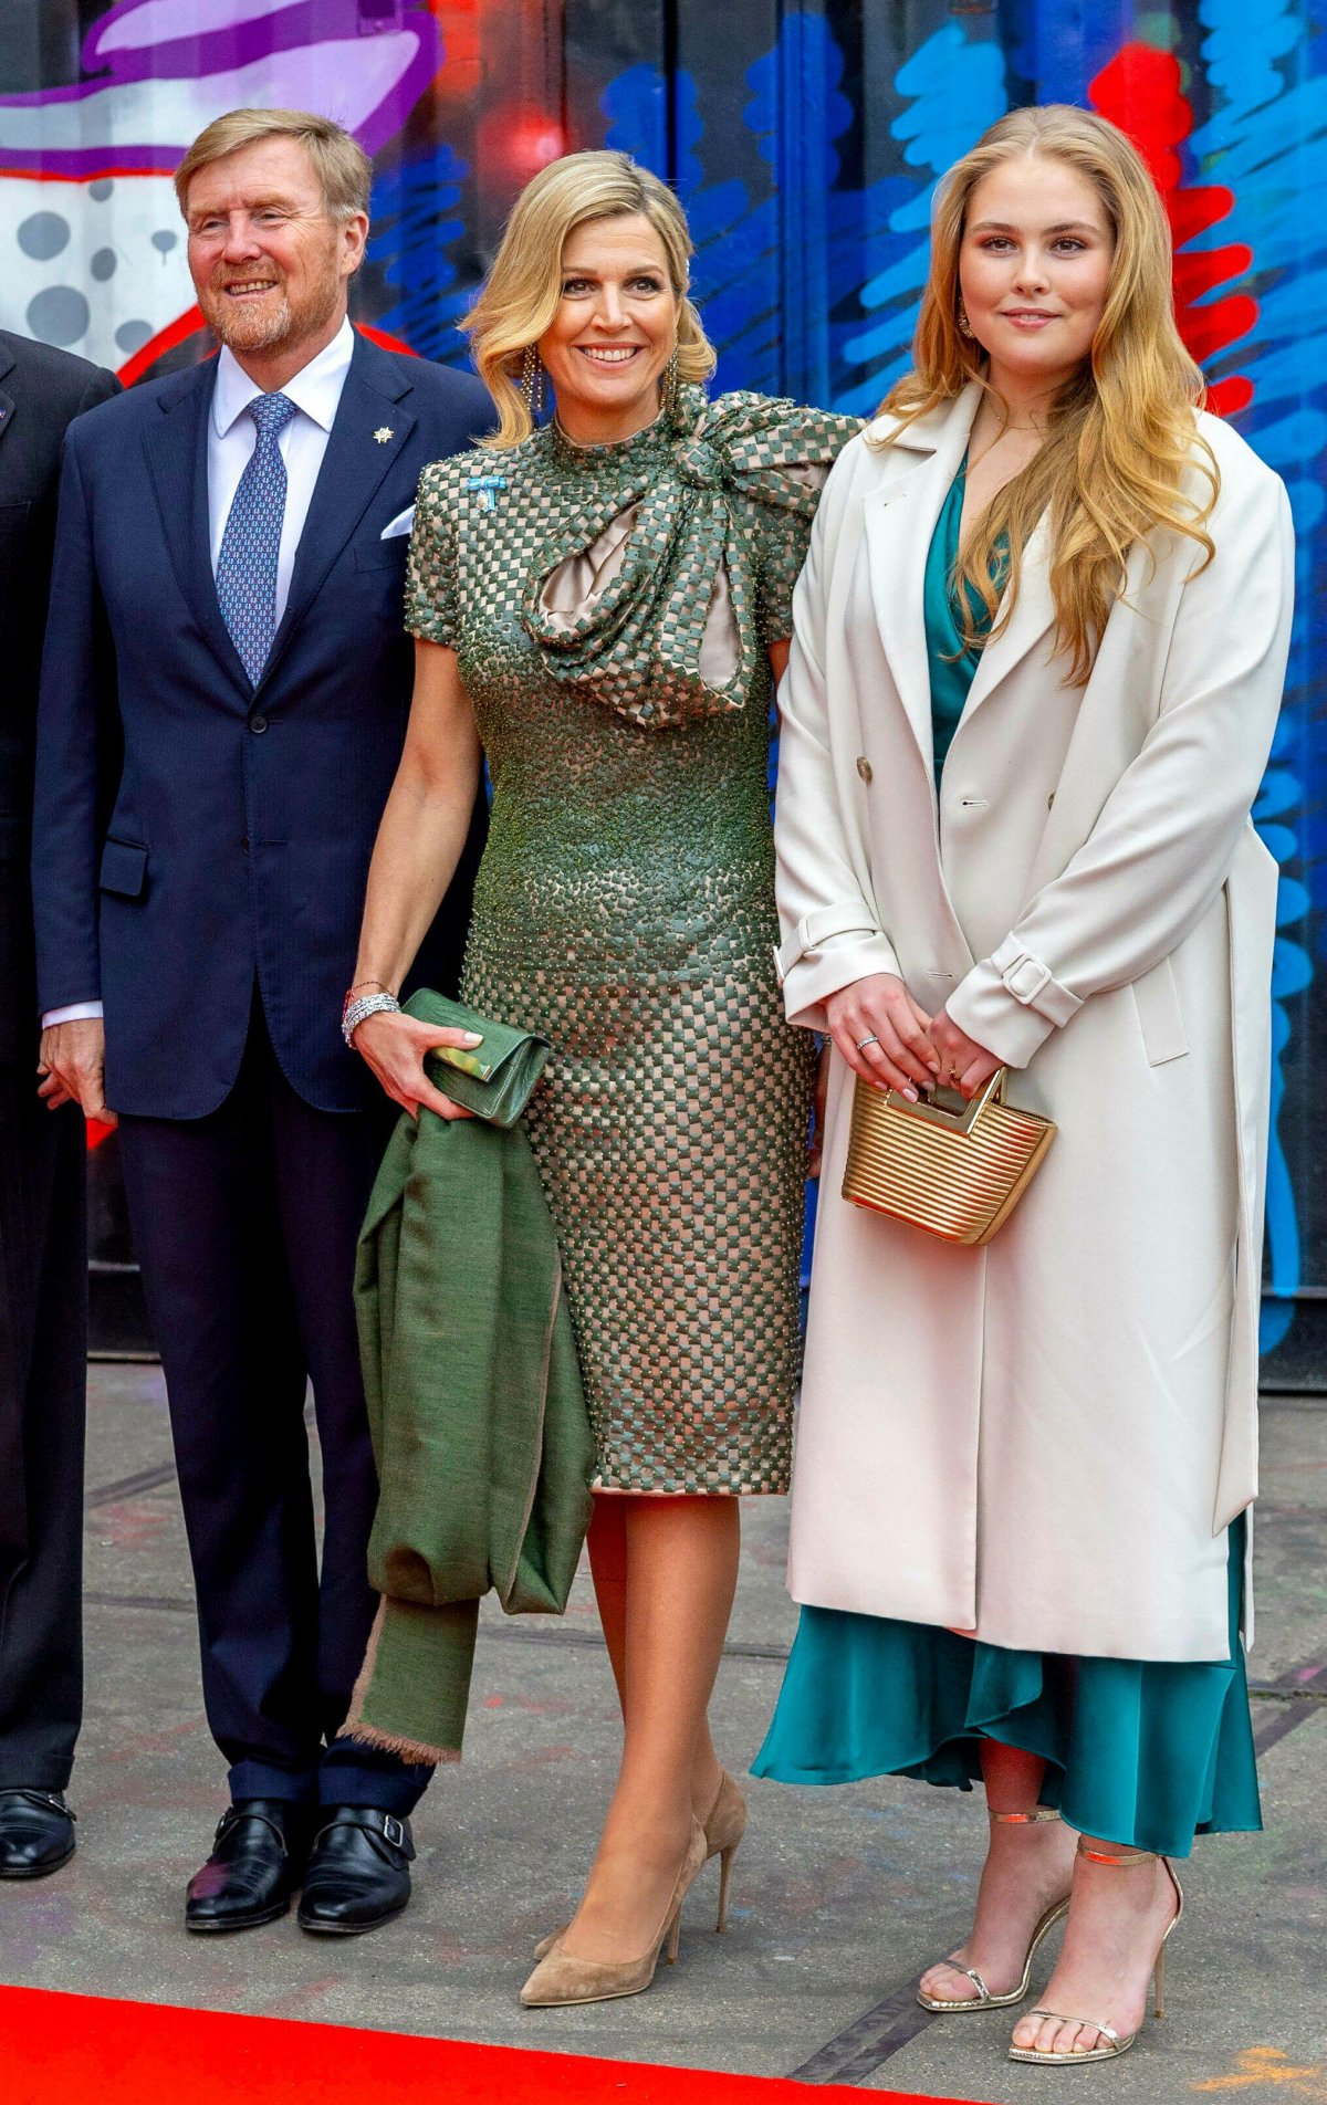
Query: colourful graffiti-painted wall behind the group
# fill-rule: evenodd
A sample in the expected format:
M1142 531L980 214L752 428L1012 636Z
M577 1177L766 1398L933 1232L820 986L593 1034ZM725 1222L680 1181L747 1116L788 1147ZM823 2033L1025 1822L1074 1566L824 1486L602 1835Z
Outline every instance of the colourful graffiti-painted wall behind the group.
M1300 528L1276 855L1268 1379L1327 1364L1327 0L0 0L0 326L126 381L204 356L169 173L221 109L293 103L375 156L354 318L461 362L520 183L583 145L676 183L718 385L870 410L904 370L939 171L1013 103L1144 149L1211 402ZM103 1263L122 1263L112 1158ZM110 1255L105 1255L110 1252ZM118 1255L116 1255L118 1252ZM1085 1292L1091 1282L1085 1282Z

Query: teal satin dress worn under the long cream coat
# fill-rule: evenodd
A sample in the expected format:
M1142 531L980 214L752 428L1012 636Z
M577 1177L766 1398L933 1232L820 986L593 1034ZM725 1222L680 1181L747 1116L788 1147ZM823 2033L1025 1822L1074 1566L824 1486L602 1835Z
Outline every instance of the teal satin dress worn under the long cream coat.
M965 469L939 514L925 579L937 781L977 663L963 653L954 604L963 478ZM994 1739L1045 1760L1041 1802L1081 1833L1188 1857L1196 1833L1260 1829L1239 1636L1243 1547L1236 1520L1230 1657L1211 1663L1011 1652L931 1623L803 1608L752 1775L920 1777L969 1791L982 1741ZM1108 1572L1102 1583L1110 1585Z

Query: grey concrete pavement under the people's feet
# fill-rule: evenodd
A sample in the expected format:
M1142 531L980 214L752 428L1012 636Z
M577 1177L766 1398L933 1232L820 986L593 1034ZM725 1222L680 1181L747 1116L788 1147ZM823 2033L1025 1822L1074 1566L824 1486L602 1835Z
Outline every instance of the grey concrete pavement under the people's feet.
M794 1612L786 1511L748 1503L716 1716L741 1770L779 1686ZM982 1802L904 1781L750 1783L729 1937L716 1869L687 1907L678 1968L649 1996L527 2012L531 1945L575 1903L613 1781L615 1703L581 1575L565 1623L487 1612L466 1762L417 1815L415 1901L348 1943L293 1920L234 1939L181 1928L223 1802L198 1695L190 1570L152 1366L91 1370L88 1720L67 1871L0 1888L0 1979L638 2061L800 2073L809 2084L1030 2099L1009 2014L931 2021L920 1968L971 1916ZM1251 1657L1264 1836L1199 1842L1171 1949L1169 2017L1074 2084L1133 2101L1327 2101L1327 1408L1266 1402ZM1034 1977L1041 1987L1045 1970Z

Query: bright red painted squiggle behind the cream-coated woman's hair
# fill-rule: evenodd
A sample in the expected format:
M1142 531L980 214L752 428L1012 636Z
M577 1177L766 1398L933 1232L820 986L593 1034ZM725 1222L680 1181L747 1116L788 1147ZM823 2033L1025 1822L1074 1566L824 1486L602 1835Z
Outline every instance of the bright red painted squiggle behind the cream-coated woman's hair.
M1190 187L1180 183L1175 147L1190 137L1194 114L1173 53L1156 51L1152 44L1125 44L1087 93L1093 109L1118 124L1144 156L1161 192L1175 250L1184 250L1194 236L1228 217L1234 192L1220 183ZM1205 248L1199 255L1175 255L1175 322L1199 364L1255 328L1257 301L1247 293L1230 293L1203 305L1217 286L1243 278L1251 263L1253 253L1239 242ZM1243 375L1230 375L1207 392L1207 406L1222 417L1230 417L1251 400L1253 381Z

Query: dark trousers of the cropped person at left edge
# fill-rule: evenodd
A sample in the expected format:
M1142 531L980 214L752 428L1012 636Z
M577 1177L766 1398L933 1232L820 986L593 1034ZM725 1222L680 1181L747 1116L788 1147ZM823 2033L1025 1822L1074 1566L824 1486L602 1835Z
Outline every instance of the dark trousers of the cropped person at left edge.
M86 1154L0 1063L0 1789L61 1791L82 1716Z

